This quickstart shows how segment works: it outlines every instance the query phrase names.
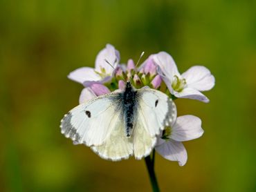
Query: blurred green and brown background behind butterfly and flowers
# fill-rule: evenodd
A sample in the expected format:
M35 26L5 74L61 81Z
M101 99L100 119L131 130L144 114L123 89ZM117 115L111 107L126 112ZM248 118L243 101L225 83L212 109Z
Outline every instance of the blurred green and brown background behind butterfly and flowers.
M180 72L201 64L209 104L178 99L203 121L180 167L156 155L162 191L256 191L256 1L0 1L0 191L150 191L144 161L100 159L60 133L105 44L122 63L165 50Z

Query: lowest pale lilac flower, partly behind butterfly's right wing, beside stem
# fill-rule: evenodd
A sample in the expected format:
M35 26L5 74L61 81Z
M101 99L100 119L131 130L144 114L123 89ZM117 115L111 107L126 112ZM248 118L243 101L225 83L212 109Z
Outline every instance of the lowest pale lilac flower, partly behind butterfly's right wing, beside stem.
M194 140L201 135L201 119L193 115L183 115L177 117L170 127L165 128L155 148L165 159L178 161L179 165L183 166L188 160L188 155L182 142Z

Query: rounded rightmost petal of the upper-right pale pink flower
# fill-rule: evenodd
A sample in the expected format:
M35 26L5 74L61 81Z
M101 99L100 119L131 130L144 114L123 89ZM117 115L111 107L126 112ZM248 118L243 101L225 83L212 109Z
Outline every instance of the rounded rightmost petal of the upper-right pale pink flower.
M214 84L214 76L204 66L192 66L181 75L186 79L187 85L196 90L210 90Z

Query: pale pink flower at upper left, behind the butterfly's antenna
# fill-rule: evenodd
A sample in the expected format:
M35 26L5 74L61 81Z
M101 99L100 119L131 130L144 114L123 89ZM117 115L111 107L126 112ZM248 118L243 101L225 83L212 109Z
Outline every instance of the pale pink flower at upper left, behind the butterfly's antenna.
M105 61L113 64L113 67ZM73 70L68 78L83 84L84 81L100 81L106 82L113 76L114 68L120 61L120 54L111 44L107 44L106 48L100 50L95 60L95 68L82 67Z

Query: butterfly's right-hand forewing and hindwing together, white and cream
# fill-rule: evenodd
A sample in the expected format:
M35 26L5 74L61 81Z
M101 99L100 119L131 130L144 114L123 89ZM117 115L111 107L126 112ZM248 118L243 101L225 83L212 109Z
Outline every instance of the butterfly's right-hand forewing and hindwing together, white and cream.
M134 126L134 156L140 160L150 154L156 135L176 119L176 106L164 93L142 88L138 90L138 119Z

